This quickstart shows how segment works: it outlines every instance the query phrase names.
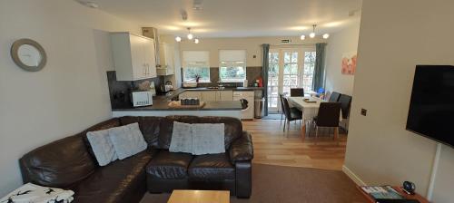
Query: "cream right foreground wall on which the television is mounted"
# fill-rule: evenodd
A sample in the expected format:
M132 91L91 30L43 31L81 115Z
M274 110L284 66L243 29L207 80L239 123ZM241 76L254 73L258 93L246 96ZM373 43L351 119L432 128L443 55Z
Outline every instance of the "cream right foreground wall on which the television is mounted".
M363 1L345 166L368 184L411 180L427 194L436 144L405 124L415 65L454 64L453 7L445 0ZM434 202L452 202L453 182L454 150L445 146Z

